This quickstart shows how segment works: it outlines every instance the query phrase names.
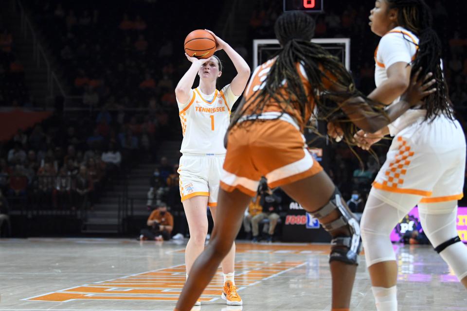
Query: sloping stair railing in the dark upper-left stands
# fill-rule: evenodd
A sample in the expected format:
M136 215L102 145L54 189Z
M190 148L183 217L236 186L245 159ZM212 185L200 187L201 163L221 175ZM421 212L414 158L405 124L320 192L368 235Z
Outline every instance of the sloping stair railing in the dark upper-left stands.
M48 96L45 100L49 98L54 98L56 95L61 95L66 98L66 93L61 85L60 81L58 80L55 72L52 70L49 59L47 58L47 54L44 51L42 45L38 42L36 31L34 30L34 26L31 23L31 20L27 16L23 5L21 4L20 0L13 0L12 7L19 8L19 12L21 15L21 33L24 35L24 38L28 39L31 38L33 41L33 58L36 63L37 68L42 68L45 66L46 73L47 73L47 94ZM16 4L16 6L14 5Z

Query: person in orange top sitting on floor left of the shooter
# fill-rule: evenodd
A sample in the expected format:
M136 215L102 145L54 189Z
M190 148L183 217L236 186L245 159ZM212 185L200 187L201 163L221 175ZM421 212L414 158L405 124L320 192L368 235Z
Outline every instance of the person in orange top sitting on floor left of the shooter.
M160 203L147 219L149 228L142 229L140 241L168 241L174 228L174 217L167 211L165 203Z

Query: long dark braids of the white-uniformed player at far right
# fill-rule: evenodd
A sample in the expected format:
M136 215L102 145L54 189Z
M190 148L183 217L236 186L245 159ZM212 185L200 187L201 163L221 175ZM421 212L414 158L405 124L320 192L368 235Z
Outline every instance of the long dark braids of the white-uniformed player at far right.
M436 79L437 91L424 99L427 109L425 120L432 120L440 114L454 120L453 105L449 99L448 86L441 68L441 41L432 28L433 17L430 7L425 0L386 1L389 9L398 9L397 24L410 30L419 38L418 53L412 63L412 72L422 67L422 76L432 72L433 78Z

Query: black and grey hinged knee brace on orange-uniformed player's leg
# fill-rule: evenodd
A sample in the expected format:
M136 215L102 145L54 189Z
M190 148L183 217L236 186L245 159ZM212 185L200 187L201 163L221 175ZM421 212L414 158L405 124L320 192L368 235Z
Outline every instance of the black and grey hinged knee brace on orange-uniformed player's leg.
M334 237L331 240L329 262L337 260L358 265L358 257L361 250L360 225L354 214L342 204L341 192L336 188L329 202L311 214L321 222L323 217L326 217L334 210L337 210L341 214L341 217L330 223L322 224L323 228L332 234L337 229L345 226L349 229L350 234Z

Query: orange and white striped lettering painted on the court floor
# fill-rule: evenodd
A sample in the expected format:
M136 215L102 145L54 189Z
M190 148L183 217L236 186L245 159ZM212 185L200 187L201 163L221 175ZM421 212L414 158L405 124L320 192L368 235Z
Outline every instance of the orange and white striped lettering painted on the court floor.
M303 261L240 261L235 264L238 290L257 284L305 265ZM185 283L185 266L178 265L123 276L107 281L76 286L56 292L25 298L28 301L69 302L73 300L156 300L177 301ZM214 301L222 293L223 277L220 270L200 297L201 301Z

